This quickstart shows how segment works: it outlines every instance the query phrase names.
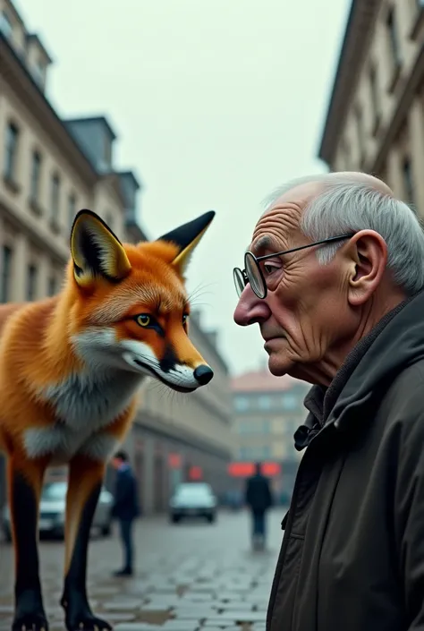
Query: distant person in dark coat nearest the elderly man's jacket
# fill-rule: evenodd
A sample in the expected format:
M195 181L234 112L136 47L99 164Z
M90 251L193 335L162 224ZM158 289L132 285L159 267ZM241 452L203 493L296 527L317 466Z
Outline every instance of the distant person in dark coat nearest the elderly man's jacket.
M246 484L246 504L250 507L252 517L252 545L254 549L265 548L266 513L272 506L269 482L262 474L261 465L255 465L256 473Z

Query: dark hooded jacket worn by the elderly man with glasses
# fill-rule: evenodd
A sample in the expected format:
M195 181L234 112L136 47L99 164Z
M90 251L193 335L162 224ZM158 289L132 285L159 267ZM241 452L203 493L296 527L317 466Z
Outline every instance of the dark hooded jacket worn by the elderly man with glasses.
M423 631L424 292L305 405L267 631Z

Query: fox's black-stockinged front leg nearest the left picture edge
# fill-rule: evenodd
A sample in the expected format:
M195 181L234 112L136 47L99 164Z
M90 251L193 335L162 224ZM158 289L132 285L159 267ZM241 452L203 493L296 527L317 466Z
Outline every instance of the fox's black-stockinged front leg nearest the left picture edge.
M15 559L12 631L47 631L38 566L38 503L47 460L17 454L7 461L9 507Z

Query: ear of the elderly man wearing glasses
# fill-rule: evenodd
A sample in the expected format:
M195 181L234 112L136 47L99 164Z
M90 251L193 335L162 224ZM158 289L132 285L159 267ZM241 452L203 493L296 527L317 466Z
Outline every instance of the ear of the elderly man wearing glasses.
M387 265L387 245L374 230L360 230L352 237L346 254L352 261L349 301L358 306L377 291Z

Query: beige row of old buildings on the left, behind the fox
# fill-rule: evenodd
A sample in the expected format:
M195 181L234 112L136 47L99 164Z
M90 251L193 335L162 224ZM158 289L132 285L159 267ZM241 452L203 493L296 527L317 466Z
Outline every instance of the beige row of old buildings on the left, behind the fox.
M0 0L0 303L60 290L79 209L97 212L123 241L146 239L137 220L141 184L131 170L114 167L111 124L103 115L61 119L46 97L51 64L11 0ZM171 396L157 384L143 387L127 447L147 513L163 510L173 484L193 472L217 491L225 484L231 458L228 370L216 350L216 332L201 328L199 314L192 320L190 335L216 377L191 397Z

